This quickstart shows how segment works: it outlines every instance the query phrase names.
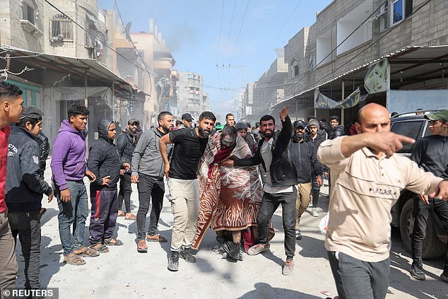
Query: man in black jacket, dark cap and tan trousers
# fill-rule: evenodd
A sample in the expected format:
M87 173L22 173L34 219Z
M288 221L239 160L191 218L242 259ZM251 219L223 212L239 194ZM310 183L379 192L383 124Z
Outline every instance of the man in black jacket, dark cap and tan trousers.
M295 239L301 240L299 222L302 213L310 204L311 173L317 174L317 182L322 184L322 165L317 161L317 151L309 141L305 141L303 120L294 122L294 136L291 139L291 153L297 171L297 201L295 202Z

